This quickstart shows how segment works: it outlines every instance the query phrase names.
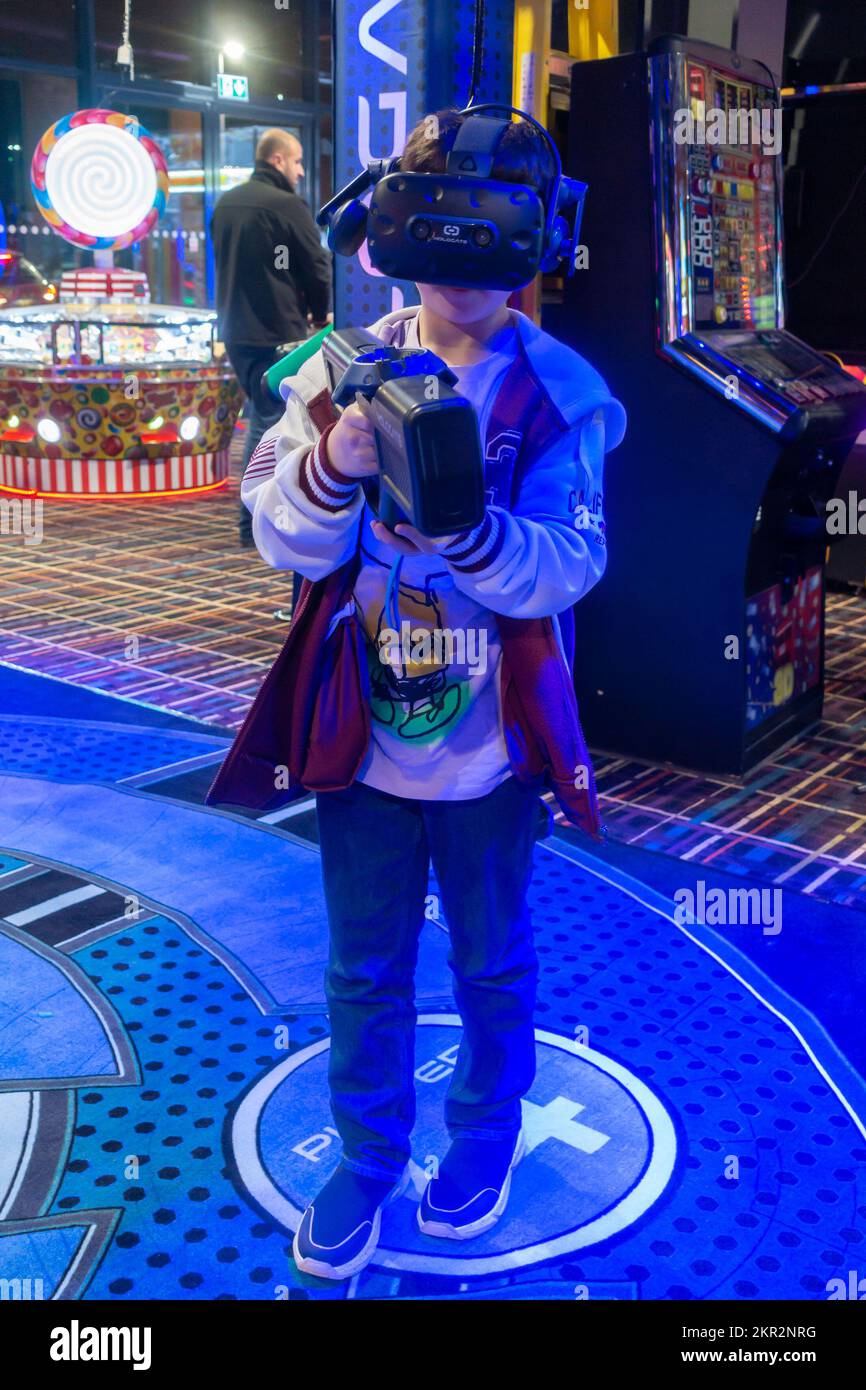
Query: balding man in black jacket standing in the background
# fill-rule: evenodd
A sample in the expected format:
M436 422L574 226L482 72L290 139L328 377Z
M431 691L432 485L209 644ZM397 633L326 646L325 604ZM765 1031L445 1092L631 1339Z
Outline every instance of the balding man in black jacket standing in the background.
M253 177L222 195L211 238L217 260L217 317L229 361L249 398L243 468L264 431L282 414L261 389L279 346L322 328L331 307L331 257L307 204L296 193L303 149L288 131L265 131ZM307 317L309 316L309 317ZM252 518L240 506L240 543Z

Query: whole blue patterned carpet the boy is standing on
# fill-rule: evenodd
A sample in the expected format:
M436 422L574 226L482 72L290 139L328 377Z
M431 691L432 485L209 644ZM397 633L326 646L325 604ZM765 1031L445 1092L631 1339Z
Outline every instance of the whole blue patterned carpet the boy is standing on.
M824 1300L862 1269L866 1087L833 1019L770 955L552 837L506 1216L466 1243L414 1222L460 1038L434 916L413 1182L366 1270L300 1275L297 1213L339 1155L310 817L185 799L225 746L207 735L49 724L0 753L0 1277L85 1302L751 1302Z

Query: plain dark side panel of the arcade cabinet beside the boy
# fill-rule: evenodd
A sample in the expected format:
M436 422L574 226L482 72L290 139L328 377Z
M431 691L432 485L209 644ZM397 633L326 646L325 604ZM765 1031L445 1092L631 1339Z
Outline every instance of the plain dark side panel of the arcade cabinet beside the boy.
M657 352L645 54L575 64L569 150L589 183L588 268L567 282L557 328L630 418L605 466L607 571L575 607L581 717L596 748L735 771L745 674L720 653L742 638L762 484L753 427Z

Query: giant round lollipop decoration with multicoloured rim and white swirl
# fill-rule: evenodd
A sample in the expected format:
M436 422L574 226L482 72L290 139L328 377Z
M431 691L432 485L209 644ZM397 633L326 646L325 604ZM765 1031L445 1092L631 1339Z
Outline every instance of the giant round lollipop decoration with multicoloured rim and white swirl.
M136 117L90 108L64 115L44 132L31 185L58 236L117 252L146 236L165 210L168 170Z

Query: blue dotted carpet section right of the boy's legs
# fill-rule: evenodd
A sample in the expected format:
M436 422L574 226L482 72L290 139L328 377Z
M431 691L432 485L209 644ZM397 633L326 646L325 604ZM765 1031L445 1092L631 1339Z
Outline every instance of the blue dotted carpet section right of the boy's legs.
M645 1298L826 1297L866 1234L866 1143L851 1116L788 1024L670 924L588 876L575 883L544 849L539 870L539 1022L587 1023L598 1047L630 1058L685 1140L676 1201L632 1241L623 1275ZM578 1277L612 1259L588 1254Z

